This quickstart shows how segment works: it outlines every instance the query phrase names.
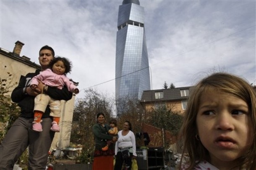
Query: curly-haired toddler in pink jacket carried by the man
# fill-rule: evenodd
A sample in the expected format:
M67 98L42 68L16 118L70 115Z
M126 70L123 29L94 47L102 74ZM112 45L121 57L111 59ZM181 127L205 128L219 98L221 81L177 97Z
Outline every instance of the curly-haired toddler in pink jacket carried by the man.
M32 89L36 89L38 85L38 81L42 81L44 83L44 88L47 86L56 87L62 89L65 85L68 90L72 93L79 93L76 85L73 84L72 81L66 77L66 74L71 71L71 62L64 57L56 57L50 62L50 69L46 69L40 72L39 75L33 77L31 79L30 87ZM47 90L45 90L47 91ZM39 94L35 98L35 106L34 106L34 122L32 129L34 131L42 131L42 115L47 107L50 107L50 116L52 116L52 127L51 130L55 132L60 132L60 100L55 100L50 98L47 94Z

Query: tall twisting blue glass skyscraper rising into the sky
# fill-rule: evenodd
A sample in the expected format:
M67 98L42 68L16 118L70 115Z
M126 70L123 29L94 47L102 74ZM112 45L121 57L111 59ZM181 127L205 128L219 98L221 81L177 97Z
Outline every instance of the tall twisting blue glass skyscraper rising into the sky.
M144 8L138 0L123 0L118 11L115 54L115 99L141 99L150 90Z

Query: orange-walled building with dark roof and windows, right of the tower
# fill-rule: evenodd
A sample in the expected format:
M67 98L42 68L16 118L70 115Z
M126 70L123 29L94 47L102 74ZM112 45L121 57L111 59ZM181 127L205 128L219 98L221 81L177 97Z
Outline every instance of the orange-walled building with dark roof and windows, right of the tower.
M141 97L141 105L145 111L151 111L160 106L171 108L172 111L184 113L191 87L145 90Z

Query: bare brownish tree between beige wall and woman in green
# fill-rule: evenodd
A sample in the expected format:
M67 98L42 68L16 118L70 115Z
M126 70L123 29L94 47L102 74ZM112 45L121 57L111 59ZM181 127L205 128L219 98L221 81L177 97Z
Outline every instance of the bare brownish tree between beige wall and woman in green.
M83 99L78 99L74 108L71 142L83 145L83 161L91 162L94 150L92 126L96 124L97 113L105 114L108 122L112 117L113 100L96 90L86 90Z

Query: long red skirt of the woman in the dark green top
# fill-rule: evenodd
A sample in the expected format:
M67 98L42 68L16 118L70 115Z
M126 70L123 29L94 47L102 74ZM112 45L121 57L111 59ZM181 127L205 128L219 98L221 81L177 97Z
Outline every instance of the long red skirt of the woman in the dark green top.
M92 170L113 170L113 155L94 157Z

